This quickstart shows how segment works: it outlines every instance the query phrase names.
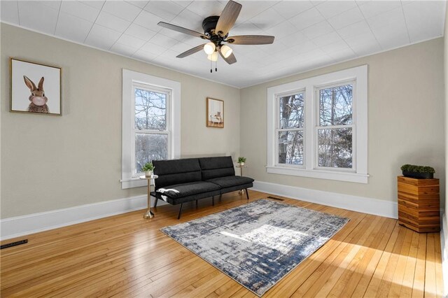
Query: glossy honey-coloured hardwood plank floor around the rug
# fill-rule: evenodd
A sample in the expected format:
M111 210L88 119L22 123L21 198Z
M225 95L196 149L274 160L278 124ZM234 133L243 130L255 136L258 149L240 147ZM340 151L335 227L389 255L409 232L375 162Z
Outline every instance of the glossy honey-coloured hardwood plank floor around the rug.
M351 220L264 297L442 297L439 233L283 199ZM246 202L233 192L214 207L186 204L180 221L179 206L159 206L151 220L135 211L21 237L29 242L1 250L1 297L256 297L159 231Z

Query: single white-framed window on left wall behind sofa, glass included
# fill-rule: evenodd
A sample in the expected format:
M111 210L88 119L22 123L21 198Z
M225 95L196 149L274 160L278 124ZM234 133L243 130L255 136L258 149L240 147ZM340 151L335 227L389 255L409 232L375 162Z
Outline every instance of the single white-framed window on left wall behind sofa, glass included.
M146 185L141 168L180 155L180 83L123 69L122 188Z

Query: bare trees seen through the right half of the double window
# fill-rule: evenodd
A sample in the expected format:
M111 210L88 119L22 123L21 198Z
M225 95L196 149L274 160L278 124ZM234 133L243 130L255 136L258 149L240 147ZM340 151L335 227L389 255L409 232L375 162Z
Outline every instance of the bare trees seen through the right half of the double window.
M353 84L319 90L318 166L353 167Z

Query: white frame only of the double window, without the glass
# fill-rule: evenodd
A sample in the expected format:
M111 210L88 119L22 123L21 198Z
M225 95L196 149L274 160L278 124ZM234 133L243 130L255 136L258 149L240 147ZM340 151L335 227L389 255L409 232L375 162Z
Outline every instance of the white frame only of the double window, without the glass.
M353 87L353 169L317 166L318 96L323 86L354 81ZM341 84L342 85L342 84ZM277 118L279 94L305 90L304 166L285 166L277 162ZM317 112L316 112L317 111ZM367 183L367 65L327 73L267 88L267 173Z

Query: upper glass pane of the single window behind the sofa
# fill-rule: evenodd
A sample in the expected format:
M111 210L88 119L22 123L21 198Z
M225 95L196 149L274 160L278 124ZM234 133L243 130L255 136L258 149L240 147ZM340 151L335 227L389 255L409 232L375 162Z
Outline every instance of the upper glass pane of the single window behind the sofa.
M135 88L135 128L167 129L167 94Z

